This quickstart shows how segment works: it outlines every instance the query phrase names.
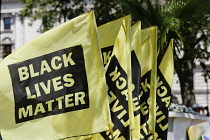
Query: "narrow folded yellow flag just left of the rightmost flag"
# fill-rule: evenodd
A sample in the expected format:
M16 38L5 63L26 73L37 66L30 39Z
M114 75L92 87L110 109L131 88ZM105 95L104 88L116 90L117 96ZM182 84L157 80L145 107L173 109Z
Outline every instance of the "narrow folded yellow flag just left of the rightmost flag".
M141 30L140 132L154 139L156 123L157 27Z

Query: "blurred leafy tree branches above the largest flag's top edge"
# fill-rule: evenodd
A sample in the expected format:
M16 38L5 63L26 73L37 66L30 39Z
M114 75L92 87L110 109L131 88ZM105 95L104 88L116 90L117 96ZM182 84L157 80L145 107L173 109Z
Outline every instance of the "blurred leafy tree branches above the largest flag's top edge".
M95 11L97 24L122 17L124 12L116 1L110 0L22 0L24 17L31 18L31 24L42 20L40 31L44 32L90 10Z

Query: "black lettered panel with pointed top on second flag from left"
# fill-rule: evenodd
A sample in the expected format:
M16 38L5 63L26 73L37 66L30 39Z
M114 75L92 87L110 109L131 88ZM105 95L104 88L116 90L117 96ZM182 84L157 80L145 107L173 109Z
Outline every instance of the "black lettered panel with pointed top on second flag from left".
M114 139L127 140L130 138L127 77L116 56L113 55L106 72L106 82L108 85L111 119L114 125ZM112 139L109 133L103 132L101 135L106 140Z

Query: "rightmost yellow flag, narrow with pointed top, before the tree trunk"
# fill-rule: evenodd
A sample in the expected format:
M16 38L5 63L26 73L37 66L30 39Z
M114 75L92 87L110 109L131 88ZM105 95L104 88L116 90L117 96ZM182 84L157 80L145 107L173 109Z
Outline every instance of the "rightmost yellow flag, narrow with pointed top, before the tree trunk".
M157 116L156 139L167 140L168 107L171 102L171 86L174 74L173 40L160 62L157 71Z

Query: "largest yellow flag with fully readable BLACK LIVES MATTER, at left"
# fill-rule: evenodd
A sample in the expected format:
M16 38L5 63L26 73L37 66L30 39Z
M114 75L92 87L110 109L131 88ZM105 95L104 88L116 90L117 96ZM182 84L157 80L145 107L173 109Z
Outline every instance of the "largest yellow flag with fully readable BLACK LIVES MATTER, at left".
M93 12L38 36L0 63L3 139L107 131L109 105Z

